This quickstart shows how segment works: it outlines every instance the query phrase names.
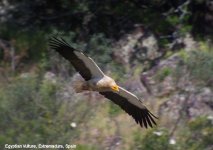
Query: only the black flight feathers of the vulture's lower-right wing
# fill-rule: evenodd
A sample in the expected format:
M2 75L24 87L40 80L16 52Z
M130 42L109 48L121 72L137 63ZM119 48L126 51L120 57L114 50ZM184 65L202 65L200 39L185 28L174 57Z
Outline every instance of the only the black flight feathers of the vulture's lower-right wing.
M100 92L106 98L113 101L115 104L119 105L125 112L135 119L135 122L140 124L141 127L148 128L153 127L153 124L156 125L156 122L153 118L156 118L147 108L141 109L132 103L128 102L125 97L114 93L114 92Z

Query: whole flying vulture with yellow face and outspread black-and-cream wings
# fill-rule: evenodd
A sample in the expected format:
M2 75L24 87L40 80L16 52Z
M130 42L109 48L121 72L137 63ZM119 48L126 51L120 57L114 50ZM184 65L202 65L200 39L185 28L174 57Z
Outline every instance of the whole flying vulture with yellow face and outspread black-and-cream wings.
M156 125L154 118L157 117L143 105L142 101L105 75L92 58L76 50L58 36L52 36L49 39L49 46L67 59L84 78L85 81L74 87L76 92L98 91L131 115L141 127L148 128L153 127L153 124Z

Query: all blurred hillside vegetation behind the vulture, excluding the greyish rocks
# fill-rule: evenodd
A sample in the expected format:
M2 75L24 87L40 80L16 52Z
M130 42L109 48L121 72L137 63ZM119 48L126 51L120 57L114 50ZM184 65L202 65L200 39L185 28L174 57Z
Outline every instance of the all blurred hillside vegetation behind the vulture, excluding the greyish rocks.
M179 87L187 76L184 83L208 88L212 94L212 11L210 0L0 1L0 146L68 143L79 150L213 149L212 97L201 99L211 115L188 116L185 110L191 104L186 99L185 105L173 104L181 109L177 121L171 122L176 117L172 111L167 114L172 117L161 115L165 99L172 101L169 95L151 94L148 100L154 100L145 103L160 119L154 129L141 129L97 93L75 94L74 69L48 47L51 34L60 33L123 85L178 56L175 67L155 72L157 85L172 77ZM160 56L150 59L136 50L135 57L122 64L115 55L116 45L138 26L154 35ZM190 51L183 40L187 35L197 45ZM178 98L192 93L181 88L174 91Z

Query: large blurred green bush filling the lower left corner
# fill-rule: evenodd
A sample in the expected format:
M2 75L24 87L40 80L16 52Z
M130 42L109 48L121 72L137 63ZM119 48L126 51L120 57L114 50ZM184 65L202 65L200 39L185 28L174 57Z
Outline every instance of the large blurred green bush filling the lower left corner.
M74 112L64 107L67 102L56 98L57 90L59 84L27 74L1 87L0 145L66 144L77 136L70 127Z

